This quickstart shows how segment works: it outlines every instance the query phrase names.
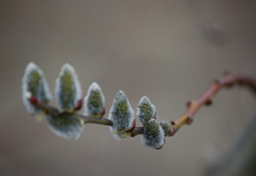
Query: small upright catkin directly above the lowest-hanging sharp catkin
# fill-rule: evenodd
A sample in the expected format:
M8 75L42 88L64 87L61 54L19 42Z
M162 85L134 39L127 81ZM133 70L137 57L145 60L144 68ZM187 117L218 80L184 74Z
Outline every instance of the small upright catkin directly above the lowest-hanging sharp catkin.
M145 125L155 115L155 106L151 104L147 96L143 96L139 101L139 107L137 111L139 121Z

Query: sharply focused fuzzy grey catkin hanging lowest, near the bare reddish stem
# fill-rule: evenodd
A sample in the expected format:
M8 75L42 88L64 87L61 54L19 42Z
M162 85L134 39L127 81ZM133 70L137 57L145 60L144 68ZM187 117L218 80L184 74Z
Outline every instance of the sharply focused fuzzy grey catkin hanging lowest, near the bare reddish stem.
M155 119L150 119L141 137L142 144L153 149L160 149L165 144L164 140L165 134L160 124Z

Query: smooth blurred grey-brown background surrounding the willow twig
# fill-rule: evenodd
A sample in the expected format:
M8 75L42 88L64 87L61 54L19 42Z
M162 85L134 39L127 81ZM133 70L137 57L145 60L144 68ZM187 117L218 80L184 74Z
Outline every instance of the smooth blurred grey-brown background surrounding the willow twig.
M253 118L248 90L222 90L191 126L153 150L140 136L118 142L94 124L78 140L57 137L23 106L24 69L35 62L54 93L68 62L83 96L91 82L100 84L107 113L121 89L134 110L147 95L170 121L224 70L256 75L255 19L254 0L1 0L0 175L204 175Z

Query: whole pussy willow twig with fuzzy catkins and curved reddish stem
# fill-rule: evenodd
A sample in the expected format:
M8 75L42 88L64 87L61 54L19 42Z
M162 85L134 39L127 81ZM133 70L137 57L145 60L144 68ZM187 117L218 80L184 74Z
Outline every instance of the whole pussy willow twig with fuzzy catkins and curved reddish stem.
M256 93L256 80L244 75L226 73L215 80L209 89L199 98L187 103L187 111L177 120L159 121L155 105L147 96L138 103L137 116L141 127L136 127L135 112L126 94L119 90L115 95L108 118L105 114L105 96L101 87L93 82L84 98L84 113L76 111L82 107L82 89L75 69L68 63L61 68L56 79L55 98L57 108L48 105L52 99L43 71L33 62L25 69L22 80L22 98L27 111L38 121L46 117L48 126L56 135L64 138L78 139L85 123L109 126L113 138L121 140L142 134L142 144L153 149L161 149L166 136L173 136L181 126L190 125L195 113L203 105L210 105L213 96L221 88L234 84L246 85Z

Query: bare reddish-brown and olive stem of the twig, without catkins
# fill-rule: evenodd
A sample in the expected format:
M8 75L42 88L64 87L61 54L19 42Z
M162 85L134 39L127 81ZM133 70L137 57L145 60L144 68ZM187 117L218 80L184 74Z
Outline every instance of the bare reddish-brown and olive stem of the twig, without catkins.
M187 124L190 125L193 122L193 117L196 112L203 105L210 105L213 101L213 96L219 92L220 89L224 87L232 87L235 84L248 86L256 95L256 79L244 76L244 75L233 75L231 73L226 73L224 76L220 77L218 80L215 80L212 85L197 99L189 101L187 103L187 111L180 118L175 121L171 121L170 124L170 132L166 136L173 136L181 126ZM47 105L40 105L46 114L58 115L60 114L58 110L54 107L50 107ZM112 121L108 120L104 117L102 118L94 118L94 117L85 117L84 115L78 113L70 113L70 115L82 118L84 123L93 123L93 124L101 124L112 126ZM135 127L133 131L131 131L131 137L137 136L138 134L143 134L144 127Z

